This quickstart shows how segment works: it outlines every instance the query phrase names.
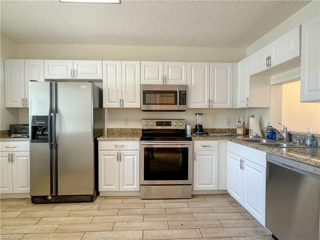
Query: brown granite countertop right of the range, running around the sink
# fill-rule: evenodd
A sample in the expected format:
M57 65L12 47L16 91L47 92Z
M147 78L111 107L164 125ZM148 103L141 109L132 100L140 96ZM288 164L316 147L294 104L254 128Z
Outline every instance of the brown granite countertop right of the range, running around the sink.
M313 166L320 167L320 147L297 147L297 148L266 148L259 144L243 141L241 139L248 138L248 136L211 136L211 135L203 135L203 136L195 136L192 135L192 140L228 140L231 142L235 142L241 144L246 147L255 148L263 152L272 153L278 156L283 156L286 158L290 158L302 163L310 164Z

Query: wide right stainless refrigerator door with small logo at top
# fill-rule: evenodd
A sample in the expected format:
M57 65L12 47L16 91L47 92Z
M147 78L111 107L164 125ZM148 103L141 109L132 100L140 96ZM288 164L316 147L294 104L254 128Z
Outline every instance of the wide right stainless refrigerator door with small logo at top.
M93 84L55 83L54 91L58 195L92 195Z

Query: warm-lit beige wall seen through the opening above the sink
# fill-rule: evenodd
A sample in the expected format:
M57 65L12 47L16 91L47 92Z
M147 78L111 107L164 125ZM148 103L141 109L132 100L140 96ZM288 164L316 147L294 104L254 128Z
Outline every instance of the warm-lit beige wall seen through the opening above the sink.
M282 121L290 131L320 132L320 103L300 102L300 81L283 85Z

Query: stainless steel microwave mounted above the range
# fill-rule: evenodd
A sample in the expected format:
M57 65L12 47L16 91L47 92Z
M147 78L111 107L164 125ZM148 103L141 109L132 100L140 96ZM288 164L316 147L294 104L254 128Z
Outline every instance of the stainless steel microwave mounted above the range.
M188 110L187 85L141 85L141 110L176 111Z

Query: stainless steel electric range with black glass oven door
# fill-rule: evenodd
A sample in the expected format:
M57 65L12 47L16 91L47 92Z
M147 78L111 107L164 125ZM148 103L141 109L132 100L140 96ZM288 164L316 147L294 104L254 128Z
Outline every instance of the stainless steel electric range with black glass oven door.
M140 198L191 198L192 139L182 119L142 119Z

